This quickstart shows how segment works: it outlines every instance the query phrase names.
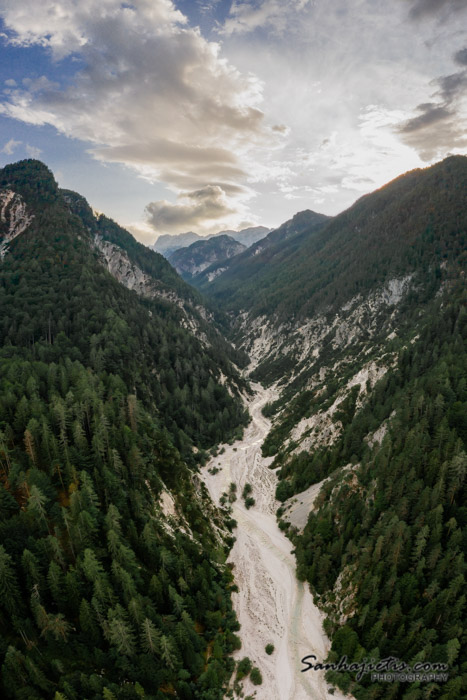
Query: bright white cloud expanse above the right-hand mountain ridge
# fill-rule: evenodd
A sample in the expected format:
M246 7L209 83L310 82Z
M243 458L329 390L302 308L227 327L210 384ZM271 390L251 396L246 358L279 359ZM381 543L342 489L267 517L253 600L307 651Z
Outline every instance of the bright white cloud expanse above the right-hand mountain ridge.
M424 16L414 31L409 21L414 5L415 0L314 0L301 12L292 3L233 5L224 27L225 51L240 69L254 66L265 85L269 118L287 125L283 148L261 166L265 178L273 175L276 192L295 198L295 210L338 213L361 194L425 165L426 142L410 139L399 127L429 101L437 75L449 78L454 60L464 65L467 41L459 17L447 12L442 22L439 14ZM276 10L286 23L283 36L270 23ZM461 85L455 74L442 87L446 92ZM461 147L466 117L457 100L452 114L457 134L445 129L438 137L434 130L427 135L438 140L431 159ZM265 214L278 208L265 188L255 205Z

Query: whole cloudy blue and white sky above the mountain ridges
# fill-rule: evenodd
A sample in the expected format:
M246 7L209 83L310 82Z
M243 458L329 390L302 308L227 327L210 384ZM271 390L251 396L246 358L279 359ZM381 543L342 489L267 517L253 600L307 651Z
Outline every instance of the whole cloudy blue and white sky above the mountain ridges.
M467 153L465 0L0 0L0 166L143 243L334 215Z

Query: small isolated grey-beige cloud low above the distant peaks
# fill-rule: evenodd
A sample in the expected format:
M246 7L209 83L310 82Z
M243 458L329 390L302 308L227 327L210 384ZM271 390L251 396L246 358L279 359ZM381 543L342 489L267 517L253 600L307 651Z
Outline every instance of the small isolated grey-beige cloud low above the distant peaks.
M235 214L224 190L208 185L179 197L177 204L167 201L151 202L146 207L148 221L161 233L178 233L206 226Z

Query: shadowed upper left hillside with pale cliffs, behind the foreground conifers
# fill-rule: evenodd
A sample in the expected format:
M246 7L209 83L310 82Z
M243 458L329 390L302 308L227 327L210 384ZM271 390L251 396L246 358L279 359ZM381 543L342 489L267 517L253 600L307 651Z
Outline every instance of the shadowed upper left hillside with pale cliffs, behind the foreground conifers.
M29 190L36 181L35 198ZM21 199L24 221L29 221L22 233L10 236L4 250L5 340L15 345L18 339L29 338L35 345L47 329L49 346L60 336L81 349L81 359L92 362L99 357L103 369L131 377L137 393L146 397L148 405L154 402L167 427L177 433L177 447L191 450L193 441L201 447L215 444L215 429L208 424L218 407L214 401L211 409L201 408L199 392L209 384L209 392L223 396L225 407L235 413L232 395L244 382L227 356L227 343L206 321L209 312L201 296L160 255L109 219L96 219L82 198L57 190L42 164L23 161L7 166L0 186ZM9 211L8 206L4 226L11 228L8 217L16 221L17 216L16 209ZM54 259L59 261L55 266ZM12 284L18 274L19 287ZM22 318L21 326L12 315ZM107 333L115 336L110 347ZM188 358L199 363L197 372L187 365ZM186 405L182 401L182 412L178 391L187 399ZM192 394L199 398L193 400ZM187 405L194 411L191 418ZM195 415L197 410L201 417ZM226 418L229 431L228 425Z

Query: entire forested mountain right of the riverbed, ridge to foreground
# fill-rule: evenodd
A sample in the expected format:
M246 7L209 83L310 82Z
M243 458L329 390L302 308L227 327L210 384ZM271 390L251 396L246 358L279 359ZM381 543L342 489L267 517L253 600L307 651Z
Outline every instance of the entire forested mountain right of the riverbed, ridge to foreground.
M449 668L420 686L330 671L355 698L467 693L466 231L467 158L453 156L305 230L275 267L246 251L203 287L251 376L279 390L263 454L328 661Z

